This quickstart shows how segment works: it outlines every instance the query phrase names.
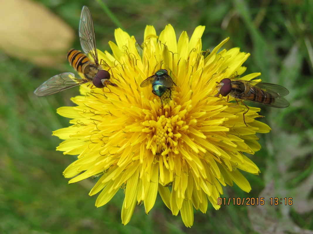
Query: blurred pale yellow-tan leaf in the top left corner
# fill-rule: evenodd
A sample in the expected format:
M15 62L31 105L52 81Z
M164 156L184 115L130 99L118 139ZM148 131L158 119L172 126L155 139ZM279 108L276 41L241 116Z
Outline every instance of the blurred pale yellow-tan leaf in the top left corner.
M65 61L74 30L38 2L3 1L0 7L0 49L40 66Z

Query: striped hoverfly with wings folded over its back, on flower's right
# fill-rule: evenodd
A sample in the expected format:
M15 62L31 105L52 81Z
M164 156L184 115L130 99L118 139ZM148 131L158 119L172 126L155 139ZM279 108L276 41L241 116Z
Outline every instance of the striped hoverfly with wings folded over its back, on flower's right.
M256 82L253 80L231 80L229 78L224 78L216 83L218 83L216 86L218 93L214 96L218 97L220 94L223 97L231 96L235 98L237 104L239 104L238 100L240 100L241 103L248 108L244 114L249 111L249 107L244 104L242 100L277 108L285 108L289 106L289 102L283 98L283 96L289 94L289 91L280 85ZM246 124L245 120L244 123Z

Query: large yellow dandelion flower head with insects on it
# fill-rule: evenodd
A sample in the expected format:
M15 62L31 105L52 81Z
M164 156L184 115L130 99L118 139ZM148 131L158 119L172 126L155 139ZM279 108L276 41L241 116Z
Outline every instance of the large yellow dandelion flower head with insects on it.
M171 25L159 36L147 26L140 47L134 37L116 29L116 44L109 42L113 53L98 51L98 56L117 87L81 85L81 95L72 98L77 106L57 110L72 119L70 127L54 132L64 139L57 150L79 154L64 176L71 178L69 183L97 177L89 193L100 192L97 207L124 189L123 224L130 221L136 204L144 204L148 214L159 193L173 215L180 212L190 227L193 207L205 213L208 200L215 209L220 207L222 185L236 183L251 190L240 170L259 173L243 153L259 150L255 134L270 130L255 120L260 109L250 107L243 116L244 105L214 96L216 82L244 73L242 64L249 54L239 48L218 52L228 38L204 53L203 31L198 26L191 38L182 32L177 41ZM152 93L152 84L140 84L161 69L177 86L166 87L159 97Z

